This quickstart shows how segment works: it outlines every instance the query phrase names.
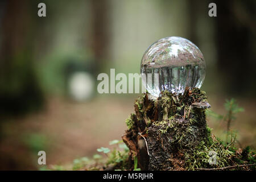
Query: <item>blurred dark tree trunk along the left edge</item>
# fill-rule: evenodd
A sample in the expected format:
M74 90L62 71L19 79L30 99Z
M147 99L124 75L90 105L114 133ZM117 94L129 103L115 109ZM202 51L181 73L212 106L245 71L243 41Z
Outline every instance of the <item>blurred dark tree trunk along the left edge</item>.
M31 17L37 14L30 10L29 1L2 3L0 114L21 114L43 103L32 60L37 35Z

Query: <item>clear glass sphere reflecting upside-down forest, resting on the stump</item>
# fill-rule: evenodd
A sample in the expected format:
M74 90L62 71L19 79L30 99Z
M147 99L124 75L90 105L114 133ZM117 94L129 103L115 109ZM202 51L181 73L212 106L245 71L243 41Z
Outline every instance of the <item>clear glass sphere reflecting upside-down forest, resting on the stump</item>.
M195 44L177 36L167 37L153 43L144 53L142 83L155 97L162 90L183 94L187 86L201 87L205 69L204 56Z

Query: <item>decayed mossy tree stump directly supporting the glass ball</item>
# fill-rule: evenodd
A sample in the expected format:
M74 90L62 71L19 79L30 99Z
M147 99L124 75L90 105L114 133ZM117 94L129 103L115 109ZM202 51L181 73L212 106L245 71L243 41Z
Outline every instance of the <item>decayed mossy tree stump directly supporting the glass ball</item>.
M186 88L183 95L164 91L156 100L146 93L134 107L122 139L142 170L183 170L185 152L212 140L205 119L210 105L198 88Z

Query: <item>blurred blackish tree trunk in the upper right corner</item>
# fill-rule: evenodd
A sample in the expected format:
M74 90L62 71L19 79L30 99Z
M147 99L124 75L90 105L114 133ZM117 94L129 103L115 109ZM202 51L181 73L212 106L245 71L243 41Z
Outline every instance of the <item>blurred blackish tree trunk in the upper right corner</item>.
M253 94L256 71L255 1L217 1L218 69L226 91Z

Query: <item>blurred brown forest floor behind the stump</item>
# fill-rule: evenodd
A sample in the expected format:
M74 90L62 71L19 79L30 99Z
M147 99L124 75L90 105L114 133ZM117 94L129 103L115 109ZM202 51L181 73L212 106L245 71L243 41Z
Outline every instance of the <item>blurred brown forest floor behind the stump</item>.
M2 122L0 169L38 169L39 150L46 151L47 164L68 164L83 156L92 157L97 148L121 139L125 119L133 113L137 96L96 97L77 104L60 97L49 97L46 108L23 118ZM224 113L224 98L209 96L212 110ZM251 103L248 105L248 103ZM238 131L241 146L256 147L255 102L238 100L245 111L231 126ZM213 134L225 138L225 123L208 118Z

